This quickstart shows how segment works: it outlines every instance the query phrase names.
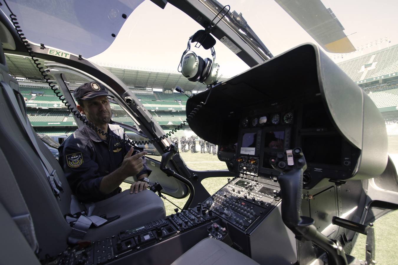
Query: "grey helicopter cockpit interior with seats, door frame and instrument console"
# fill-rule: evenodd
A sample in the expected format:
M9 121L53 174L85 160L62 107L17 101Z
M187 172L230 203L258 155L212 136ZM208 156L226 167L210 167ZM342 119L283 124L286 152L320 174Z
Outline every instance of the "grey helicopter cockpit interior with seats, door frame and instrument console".
M120 29L119 16L126 19L141 2L115 1L115 7L98 10L108 10L112 27ZM183 76L205 83L206 89L189 96L186 122L172 132L165 132L137 95L101 66L62 48L30 42L23 32L28 28L35 34L36 28L29 27L34 16L23 15L35 8L18 1L0 6L4 263L375 264L371 223L397 208L398 178L388 156L384 119L367 93L315 44L273 56L250 27L236 32L228 25L243 25L243 17L236 19L217 1L152 2L160 8L173 5L203 26L188 46L196 42L213 48L212 58L205 60L189 48L181 56ZM92 6L80 5L80 12ZM37 9L42 8L41 14L50 14L59 5ZM99 33L105 23L100 18L80 21L95 28L98 39L93 41L104 40L99 45L84 41L82 50L95 46L96 53L109 44L105 31ZM37 39L45 39L43 32ZM219 81L216 40L251 68ZM325 46L324 39L319 41ZM114 97L110 102L135 126L115 124L145 139L134 138L133 144L153 146L161 156L160 161L148 160L149 189L134 199L122 192L98 203L77 201L58 161L32 129L4 53L31 57L78 127L88 122L76 110L74 87L66 76L104 85ZM47 63L43 66L38 58ZM218 146L217 157L228 170L199 171L185 164L169 139L185 124ZM201 180L218 176L228 177L228 183L210 194ZM181 211L166 216L162 194L188 199ZM366 261L349 255L358 234L367 236Z

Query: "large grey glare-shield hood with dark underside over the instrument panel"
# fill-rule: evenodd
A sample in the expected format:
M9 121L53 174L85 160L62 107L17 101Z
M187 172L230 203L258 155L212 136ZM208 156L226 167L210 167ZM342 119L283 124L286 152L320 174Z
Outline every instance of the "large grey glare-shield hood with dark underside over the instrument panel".
M365 91L314 44L297 46L193 96L187 101L187 114L206 101L209 91L206 105L189 121L190 128L206 141L236 143L241 113L320 97L327 116L324 118L361 152L356 178L381 174L386 167L387 132L380 111Z

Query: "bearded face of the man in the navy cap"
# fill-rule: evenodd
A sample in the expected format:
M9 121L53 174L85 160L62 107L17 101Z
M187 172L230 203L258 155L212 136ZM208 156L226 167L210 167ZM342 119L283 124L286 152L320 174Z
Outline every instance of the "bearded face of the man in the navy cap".
M83 106L78 105L78 110L96 126L108 124L111 121L111 106L107 96L85 100Z

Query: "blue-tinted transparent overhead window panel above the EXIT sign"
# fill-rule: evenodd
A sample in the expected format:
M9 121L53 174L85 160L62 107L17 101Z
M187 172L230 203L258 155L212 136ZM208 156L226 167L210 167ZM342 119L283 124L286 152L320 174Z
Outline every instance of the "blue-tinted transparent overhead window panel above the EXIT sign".
M89 58L106 50L143 0L8 0L25 37ZM3 12L9 17L5 5Z

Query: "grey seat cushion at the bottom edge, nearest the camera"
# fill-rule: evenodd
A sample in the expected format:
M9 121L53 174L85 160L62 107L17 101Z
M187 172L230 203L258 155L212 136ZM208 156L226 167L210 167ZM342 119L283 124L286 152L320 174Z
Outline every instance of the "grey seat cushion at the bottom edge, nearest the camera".
M259 265L250 257L214 238L203 239L172 263L172 265L186 264Z

